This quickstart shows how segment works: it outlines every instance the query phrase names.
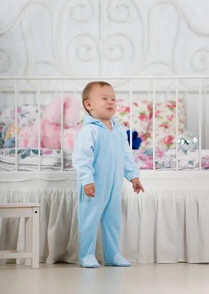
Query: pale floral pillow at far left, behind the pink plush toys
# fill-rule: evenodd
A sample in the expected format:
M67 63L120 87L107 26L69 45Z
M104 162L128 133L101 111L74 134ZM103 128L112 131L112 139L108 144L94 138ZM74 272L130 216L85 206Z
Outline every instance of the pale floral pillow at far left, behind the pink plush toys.
M44 105L41 105L41 117L43 115ZM22 127L25 124L33 125L38 119L38 104L18 106L18 125ZM0 115L0 125L3 125L1 136L4 137L4 129L11 124L15 124L15 107L6 108Z

